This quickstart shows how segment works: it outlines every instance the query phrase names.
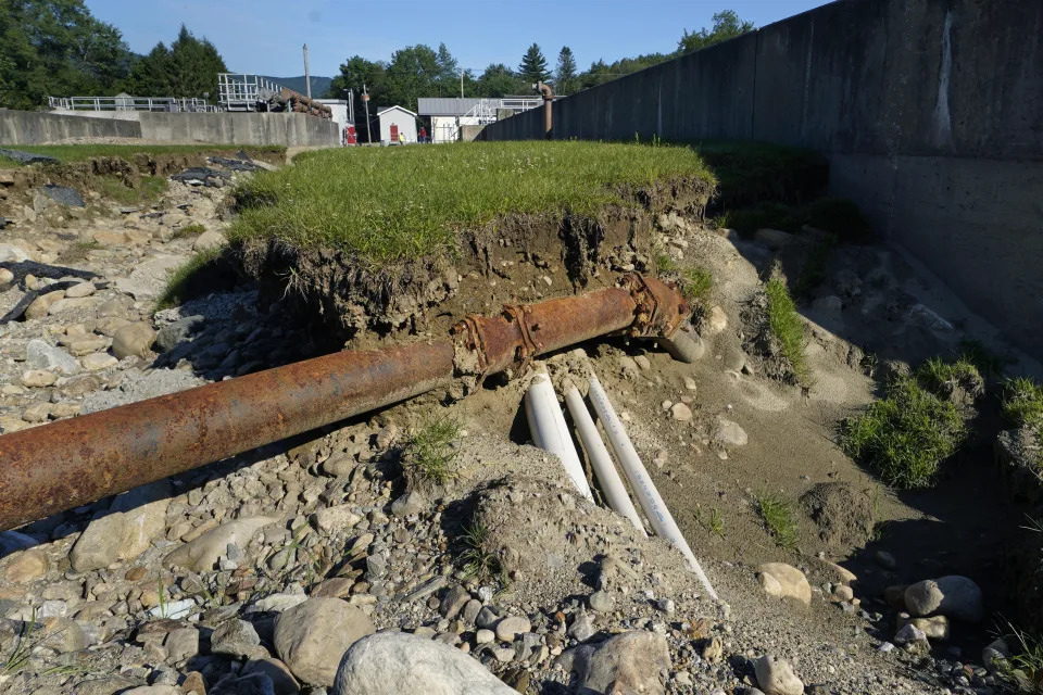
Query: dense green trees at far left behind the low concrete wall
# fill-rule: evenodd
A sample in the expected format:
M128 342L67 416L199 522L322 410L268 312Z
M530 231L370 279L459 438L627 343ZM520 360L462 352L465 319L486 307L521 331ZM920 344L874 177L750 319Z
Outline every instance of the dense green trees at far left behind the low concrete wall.
M0 0L0 105L36 109L48 96L209 97L225 62L183 25L169 45L137 55L83 0Z

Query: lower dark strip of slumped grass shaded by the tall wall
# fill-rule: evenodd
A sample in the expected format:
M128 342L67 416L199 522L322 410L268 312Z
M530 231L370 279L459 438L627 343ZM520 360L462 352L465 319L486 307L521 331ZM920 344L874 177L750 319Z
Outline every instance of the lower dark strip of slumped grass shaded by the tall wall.
M730 208L712 220L717 228L734 229L750 236L757 229L800 232L804 225L835 235L839 241L863 242L872 239L869 219L849 200L820 198L801 205L759 203L752 207Z

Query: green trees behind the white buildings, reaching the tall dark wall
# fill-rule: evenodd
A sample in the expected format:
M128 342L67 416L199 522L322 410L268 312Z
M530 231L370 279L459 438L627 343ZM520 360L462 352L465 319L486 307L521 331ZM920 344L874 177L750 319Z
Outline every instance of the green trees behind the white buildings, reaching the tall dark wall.
M445 43L432 49L423 43L407 46L391 54L390 61L373 61L362 55L348 59L334 77L327 97L347 99L354 93L355 103L365 87L372 103L380 106L398 104L416 111L420 97L460 97L461 83L465 97L500 98L507 94L532 94L537 81L554 85L560 94L589 89L602 83L629 75L683 53L698 51L753 30L754 24L739 18L733 10L714 14L712 28L682 34L677 48L669 53L649 53L625 58L613 63L598 60L590 68L578 72L573 50L564 46L557 53L555 70L551 70L543 50L532 43L522 56L517 68L504 63L492 63L480 74L470 68L461 72Z

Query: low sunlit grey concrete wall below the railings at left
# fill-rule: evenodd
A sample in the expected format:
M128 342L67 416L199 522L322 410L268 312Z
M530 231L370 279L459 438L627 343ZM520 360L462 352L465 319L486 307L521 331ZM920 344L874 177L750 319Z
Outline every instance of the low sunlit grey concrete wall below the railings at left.
M98 113L102 115L0 111L0 143L47 144L68 138L142 138L172 144L340 144L336 123L299 113Z

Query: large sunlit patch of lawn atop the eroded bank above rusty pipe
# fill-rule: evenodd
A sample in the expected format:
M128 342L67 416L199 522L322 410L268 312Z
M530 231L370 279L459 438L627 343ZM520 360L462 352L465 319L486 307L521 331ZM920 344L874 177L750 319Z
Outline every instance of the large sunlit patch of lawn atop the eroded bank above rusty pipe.
M512 213L595 215L633 192L713 175L691 148L473 142L309 152L237 188L233 239L355 252L375 263L450 253L457 232Z

